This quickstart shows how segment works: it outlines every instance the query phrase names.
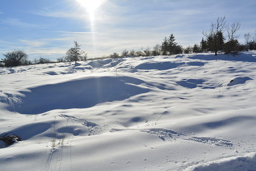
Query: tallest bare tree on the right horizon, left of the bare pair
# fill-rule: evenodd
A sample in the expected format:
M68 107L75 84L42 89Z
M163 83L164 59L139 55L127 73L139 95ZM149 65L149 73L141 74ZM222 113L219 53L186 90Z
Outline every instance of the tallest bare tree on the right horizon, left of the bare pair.
M203 31L203 35L207 38L212 37L215 55L217 55L218 47L219 47L219 35L223 33L223 30L226 27L225 16L218 17L216 23L210 25L210 29Z

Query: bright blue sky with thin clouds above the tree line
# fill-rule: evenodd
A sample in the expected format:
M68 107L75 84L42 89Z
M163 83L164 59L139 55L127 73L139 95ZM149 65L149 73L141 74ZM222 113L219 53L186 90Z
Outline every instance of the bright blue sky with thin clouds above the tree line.
M256 30L255 8L255 0L104 0L89 13L76 0L1 1L0 53L23 49L30 60L56 60L77 41L94 58L152 49L171 33L186 47L199 44L202 31L219 16L241 23L239 41L244 43L243 34Z

